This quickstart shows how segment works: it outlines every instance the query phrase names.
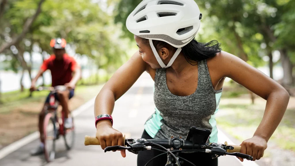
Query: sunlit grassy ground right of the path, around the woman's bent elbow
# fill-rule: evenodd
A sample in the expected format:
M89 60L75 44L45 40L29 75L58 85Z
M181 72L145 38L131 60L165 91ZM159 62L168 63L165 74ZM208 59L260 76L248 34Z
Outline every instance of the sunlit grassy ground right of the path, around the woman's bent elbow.
M217 127L242 142L253 136L266 106L266 100L257 98L251 104L248 95L222 98L217 113ZM295 97L291 97L286 113L268 141L268 148L260 162L268 166L295 165Z

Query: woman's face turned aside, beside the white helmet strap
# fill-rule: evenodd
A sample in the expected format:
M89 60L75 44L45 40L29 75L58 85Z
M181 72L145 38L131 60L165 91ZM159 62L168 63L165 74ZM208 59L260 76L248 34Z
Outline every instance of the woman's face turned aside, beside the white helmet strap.
M159 65L152 48L150 47L150 44L145 44L142 41L142 38L134 35L136 44L139 48L139 54L141 55L143 61L145 61L147 64L149 64L153 69L159 69L161 66Z

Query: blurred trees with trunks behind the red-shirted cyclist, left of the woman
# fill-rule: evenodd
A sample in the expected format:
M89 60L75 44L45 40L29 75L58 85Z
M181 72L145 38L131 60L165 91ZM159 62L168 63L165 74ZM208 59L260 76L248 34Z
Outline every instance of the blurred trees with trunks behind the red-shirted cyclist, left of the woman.
M0 70L16 73L38 69L42 60L52 53L52 38L65 38L66 50L83 69L96 67L114 72L127 60L126 39L119 38L121 27L114 24L113 9L116 1L90 0L22 0L0 1ZM126 44L124 44L126 43ZM35 58L34 58L35 57ZM38 57L38 58L36 58ZM85 61L86 59L86 61ZM43 80L43 84L44 84Z

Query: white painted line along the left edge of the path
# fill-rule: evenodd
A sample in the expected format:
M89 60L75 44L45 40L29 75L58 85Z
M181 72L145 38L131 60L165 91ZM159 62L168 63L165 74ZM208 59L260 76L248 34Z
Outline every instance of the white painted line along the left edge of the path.
M76 110L72 111L72 115L73 117L79 115L80 113L82 113L84 110L86 110L87 108L91 107L91 105L94 104L94 100L95 97L91 100L89 100L88 102L86 102L85 104L81 105L79 108L77 108ZM40 133L39 131L35 131L34 133L25 136L24 138L13 142L12 144L2 148L0 150L0 160L2 158L4 158L5 156L7 156L8 154L16 151L17 149L23 147L24 145L34 141L35 139L38 139L40 137Z

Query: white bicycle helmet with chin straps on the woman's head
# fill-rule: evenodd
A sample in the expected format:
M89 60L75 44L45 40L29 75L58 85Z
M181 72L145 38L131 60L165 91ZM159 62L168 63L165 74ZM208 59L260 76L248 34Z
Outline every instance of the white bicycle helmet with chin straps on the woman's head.
M195 38L201 18L194 0L143 0L128 16L126 27L134 35L149 39L158 63L162 68L168 68L181 52L181 47ZM152 40L161 40L178 48L167 66Z

